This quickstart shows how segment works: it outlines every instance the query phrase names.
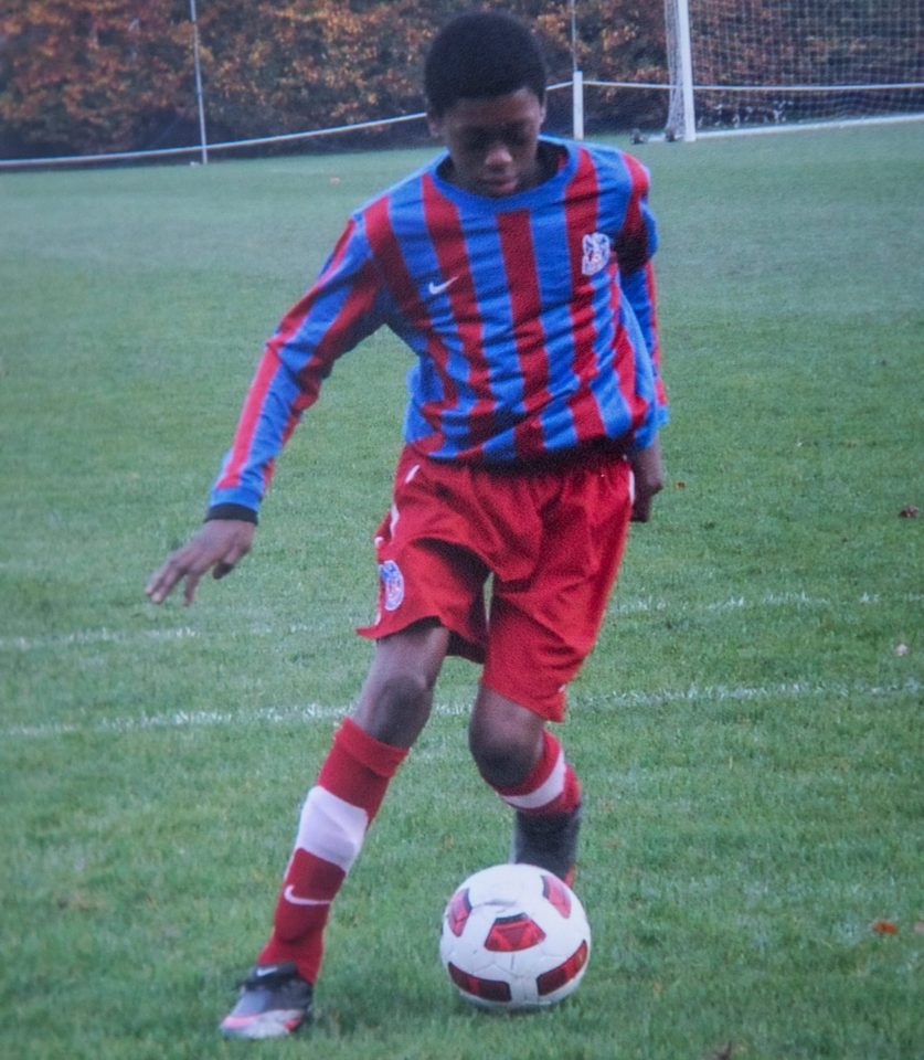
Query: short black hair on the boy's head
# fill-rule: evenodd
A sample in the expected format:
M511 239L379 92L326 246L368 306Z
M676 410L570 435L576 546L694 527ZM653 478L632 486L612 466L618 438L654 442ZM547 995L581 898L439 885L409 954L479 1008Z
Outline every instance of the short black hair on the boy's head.
M533 34L502 11L457 15L436 34L424 65L427 104L437 115L459 99L529 88L542 103L548 72Z

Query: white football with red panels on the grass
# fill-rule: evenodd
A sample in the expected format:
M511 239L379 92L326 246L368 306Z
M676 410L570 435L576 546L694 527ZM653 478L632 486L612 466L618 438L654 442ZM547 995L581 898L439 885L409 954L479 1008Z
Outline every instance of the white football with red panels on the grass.
M590 955L577 895L534 865L476 872L443 914L439 956L459 994L481 1008L554 1005L576 989Z

